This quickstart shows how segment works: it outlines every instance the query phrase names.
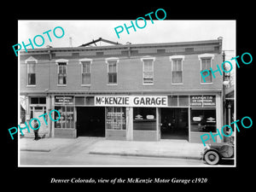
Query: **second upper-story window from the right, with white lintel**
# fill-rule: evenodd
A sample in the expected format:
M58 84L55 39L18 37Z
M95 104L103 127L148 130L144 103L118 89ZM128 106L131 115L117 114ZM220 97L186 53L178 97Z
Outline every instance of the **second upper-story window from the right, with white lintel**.
M172 84L183 84L183 55L172 55Z

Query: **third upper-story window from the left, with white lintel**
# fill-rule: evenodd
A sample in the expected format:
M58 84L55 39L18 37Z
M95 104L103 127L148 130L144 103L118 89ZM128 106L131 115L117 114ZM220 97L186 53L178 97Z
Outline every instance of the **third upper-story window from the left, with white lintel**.
M91 59L79 60L82 71L82 85L90 85L90 73L91 73Z

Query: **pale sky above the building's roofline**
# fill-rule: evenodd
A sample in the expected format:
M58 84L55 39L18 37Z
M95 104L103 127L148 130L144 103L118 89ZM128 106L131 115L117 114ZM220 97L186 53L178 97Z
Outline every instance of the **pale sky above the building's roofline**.
M135 25L135 20L132 20ZM69 47L72 38L73 47L86 44L98 38L105 38L119 44L150 44L150 43L172 43L183 41L211 40L223 37L223 49L236 50L236 20L146 20L143 29L129 29L130 34L125 31L125 26L131 26L131 20L19 20L18 21L18 44L23 41L29 44L37 36L44 37L44 45L52 47ZM138 26L143 26L144 21L139 20ZM65 32L62 38L55 38L53 30L61 26ZM119 38L114 31L117 26L123 26L124 32L119 33ZM49 32L52 42L49 42ZM58 29L61 32L60 29ZM119 29L118 29L119 30ZM37 38L40 44L40 38ZM108 45L97 43L97 45ZM30 47L28 47L30 48ZM38 48L38 47L35 47ZM235 52L227 52L227 56L235 56Z

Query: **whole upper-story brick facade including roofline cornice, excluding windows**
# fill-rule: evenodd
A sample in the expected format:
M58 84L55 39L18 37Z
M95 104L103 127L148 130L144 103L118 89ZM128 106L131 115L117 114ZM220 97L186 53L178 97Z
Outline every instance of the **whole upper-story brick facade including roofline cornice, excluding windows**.
M217 40L177 44L134 44L131 53L127 45L104 46L95 48L59 48L32 49L20 54L20 90L214 90L222 88L222 78L215 73L212 84L201 84L201 62L198 55L214 55L212 69L221 65L221 42ZM129 57L131 55L131 57ZM141 58L150 55L154 61L154 84L143 85L143 61ZM184 55L183 84L172 84L171 55ZM37 86L28 87L26 79L27 58L38 60L36 69ZM118 84L108 85L108 64L105 59L118 57ZM91 85L81 86L81 65L79 59L92 59ZM57 65L55 60L66 59L67 86L57 86ZM49 75L50 74L50 75ZM50 84L49 84L50 81Z

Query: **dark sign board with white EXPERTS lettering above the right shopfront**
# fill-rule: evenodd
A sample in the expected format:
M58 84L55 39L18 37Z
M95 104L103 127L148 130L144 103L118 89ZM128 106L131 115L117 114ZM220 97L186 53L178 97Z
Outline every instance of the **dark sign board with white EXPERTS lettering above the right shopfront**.
M190 107L193 107L193 108L216 107L215 96L190 96Z

